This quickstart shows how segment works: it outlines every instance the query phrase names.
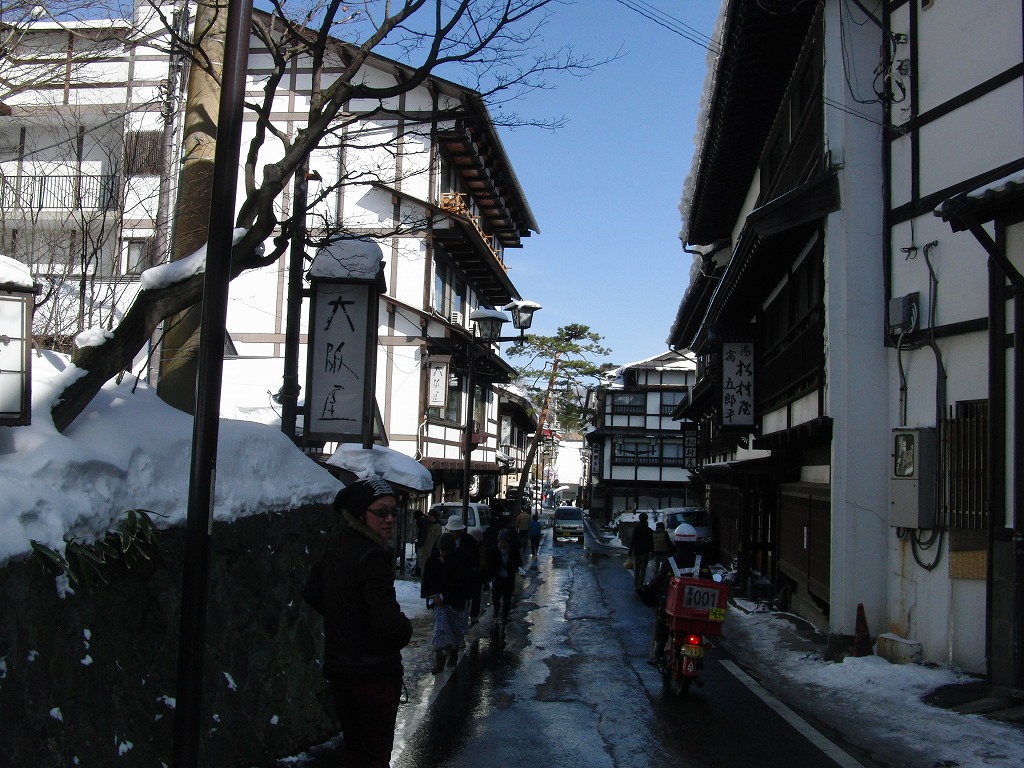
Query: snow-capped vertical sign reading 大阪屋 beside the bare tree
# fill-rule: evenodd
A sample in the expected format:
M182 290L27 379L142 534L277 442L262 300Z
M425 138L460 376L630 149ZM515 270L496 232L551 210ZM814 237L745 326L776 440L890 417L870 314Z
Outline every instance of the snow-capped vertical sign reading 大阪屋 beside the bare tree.
M344 241L309 268L306 441L373 444L381 259L376 243Z

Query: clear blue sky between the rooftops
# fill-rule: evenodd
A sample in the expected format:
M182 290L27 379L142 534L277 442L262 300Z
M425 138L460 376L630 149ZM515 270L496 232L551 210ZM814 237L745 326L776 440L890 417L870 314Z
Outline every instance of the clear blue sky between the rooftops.
M720 0L648 0L706 36ZM509 275L541 303L534 330L581 323L604 337L606 361L665 351L689 281L679 199L693 156L707 50L617 0L559 6L545 42L594 59L620 57L584 79L514 104L531 118L568 119L557 131L502 129L502 141L540 234L506 253ZM604 361L604 360L602 360Z

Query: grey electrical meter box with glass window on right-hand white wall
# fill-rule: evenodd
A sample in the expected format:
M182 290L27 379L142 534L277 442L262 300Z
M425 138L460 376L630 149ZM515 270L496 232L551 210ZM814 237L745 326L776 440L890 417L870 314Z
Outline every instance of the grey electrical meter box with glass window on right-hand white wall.
M934 528L935 428L893 430L889 475L889 524L899 528Z

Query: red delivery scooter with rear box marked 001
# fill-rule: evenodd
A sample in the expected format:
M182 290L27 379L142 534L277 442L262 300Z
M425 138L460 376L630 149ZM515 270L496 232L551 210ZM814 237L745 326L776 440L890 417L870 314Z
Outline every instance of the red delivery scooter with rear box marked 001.
M665 605L669 643L665 649L662 675L665 684L677 696L684 696L690 686L703 685L705 649L713 648L709 636L721 635L728 586L707 579L673 577L669 582Z

